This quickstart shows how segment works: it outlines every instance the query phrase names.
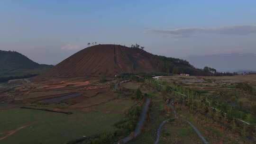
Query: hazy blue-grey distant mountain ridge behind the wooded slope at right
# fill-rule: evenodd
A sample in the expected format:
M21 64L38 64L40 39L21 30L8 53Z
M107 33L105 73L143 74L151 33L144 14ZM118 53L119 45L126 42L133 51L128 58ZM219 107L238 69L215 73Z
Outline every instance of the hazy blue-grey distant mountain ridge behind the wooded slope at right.
M197 68L210 66L219 72L255 71L256 54L191 55L183 58Z

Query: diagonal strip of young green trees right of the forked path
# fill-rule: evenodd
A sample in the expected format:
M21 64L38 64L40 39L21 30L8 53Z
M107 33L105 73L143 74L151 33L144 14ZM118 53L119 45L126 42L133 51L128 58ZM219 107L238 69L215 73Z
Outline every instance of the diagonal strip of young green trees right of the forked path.
M214 122L228 127L241 136L256 136L256 117L252 109L245 108L239 103L230 103L234 102L234 99L229 102L229 99L226 98L230 97L232 93L219 91L217 98L222 98L220 100L216 99L216 94L209 96L209 94L204 94L200 90L194 90L176 83L155 80L147 80L146 83L164 93L166 92L166 87L169 87L167 91L172 93L174 102L178 104L179 108L187 107L192 113L200 113L205 117L209 117ZM238 83L237 88L249 93L252 91L251 87L244 83Z

